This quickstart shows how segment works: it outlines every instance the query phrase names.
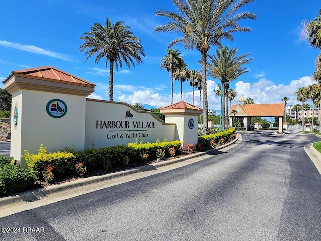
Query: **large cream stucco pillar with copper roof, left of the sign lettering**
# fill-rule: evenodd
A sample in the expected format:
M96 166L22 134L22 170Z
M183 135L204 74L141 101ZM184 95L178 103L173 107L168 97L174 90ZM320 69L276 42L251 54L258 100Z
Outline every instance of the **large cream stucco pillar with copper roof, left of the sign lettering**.
M84 149L86 96L95 84L51 66L13 71L3 81L12 95L10 156L27 167L24 150L36 154L75 145Z

